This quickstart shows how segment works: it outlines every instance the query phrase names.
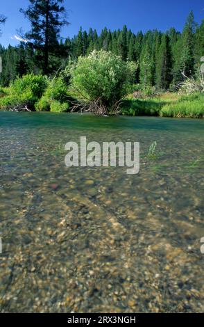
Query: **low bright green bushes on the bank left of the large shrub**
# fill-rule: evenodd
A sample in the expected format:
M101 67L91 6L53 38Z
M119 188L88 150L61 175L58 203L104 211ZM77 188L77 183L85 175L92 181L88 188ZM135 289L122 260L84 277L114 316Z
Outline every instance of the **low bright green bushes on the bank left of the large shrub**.
M0 89L0 109L27 106L37 111L68 111L67 85L62 77L48 80L42 75L27 74L17 78L9 88Z

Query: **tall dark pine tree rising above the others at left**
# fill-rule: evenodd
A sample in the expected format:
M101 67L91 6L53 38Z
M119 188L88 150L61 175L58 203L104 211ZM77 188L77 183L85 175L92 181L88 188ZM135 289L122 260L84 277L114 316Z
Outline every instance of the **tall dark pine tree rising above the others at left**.
M29 0L27 10L21 9L25 17L31 22L31 31L24 35L28 46L35 49L37 65L42 67L44 74L48 74L49 57L58 55L60 29L68 24L65 8L61 6L63 0Z

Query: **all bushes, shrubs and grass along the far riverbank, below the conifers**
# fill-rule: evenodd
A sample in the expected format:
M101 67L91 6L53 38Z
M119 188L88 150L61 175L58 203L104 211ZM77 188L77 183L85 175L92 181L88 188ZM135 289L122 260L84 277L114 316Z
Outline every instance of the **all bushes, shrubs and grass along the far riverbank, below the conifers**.
M134 71L134 63L125 63L110 52L94 51L53 79L26 74L8 88L0 88L0 109L204 117L203 90L187 93L184 85L177 93L142 89L133 85Z

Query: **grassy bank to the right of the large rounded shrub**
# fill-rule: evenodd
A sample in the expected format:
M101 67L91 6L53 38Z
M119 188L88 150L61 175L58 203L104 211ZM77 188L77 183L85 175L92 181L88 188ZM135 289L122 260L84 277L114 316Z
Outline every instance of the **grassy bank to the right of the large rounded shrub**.
M133 99L129 96L123 102L121 113L123 115L204 118L204 94L162 93L157 97L147 99Z

